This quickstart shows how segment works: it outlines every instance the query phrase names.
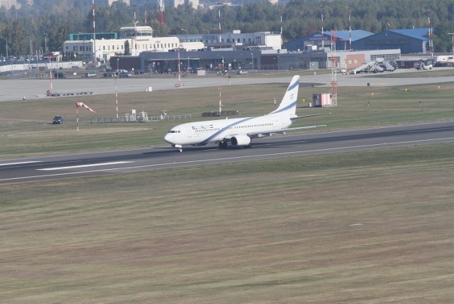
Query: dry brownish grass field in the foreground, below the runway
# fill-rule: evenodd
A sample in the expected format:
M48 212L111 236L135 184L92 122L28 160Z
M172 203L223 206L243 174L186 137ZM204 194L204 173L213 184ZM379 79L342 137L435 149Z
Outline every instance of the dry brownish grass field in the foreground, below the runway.
M0 185L0 298L448 303L451 151Z

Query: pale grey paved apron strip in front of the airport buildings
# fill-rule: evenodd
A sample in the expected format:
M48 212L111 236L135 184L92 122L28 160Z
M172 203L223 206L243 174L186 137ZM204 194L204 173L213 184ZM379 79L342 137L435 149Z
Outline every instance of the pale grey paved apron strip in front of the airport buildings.
M409 72L409 70L402 70ZM400 72L400 70L397 70ZM396 72L396 73L397 73ZM426 71L413 71L415 73ZM60 80L1 80L0 81L0 102L23 100L23 99L38 99L38 98L58 98L45 97L45 93L50 89L54 92L93 92L93 94L114 94L115 85L117 92L145 92L148 87L152 87L153 91L161 89L187 89L196 87L220 87L226 85L250 85L258 83L288 83L292 78L289 77L260 77L258 75L243 76L233 75L230 80L225 76L207 76L182 78L184 86L176 88L177 78L79 78L79 79L60 79ZM411 78L375 78L367 77L365 74L359 75L337 75L338 86L390 86L390 85L421 85L426 83L441 83L454 82L454 76L447 77L411 77ZM300 82L305 84L315 84L319 86L331 86L331 74L301 75Z

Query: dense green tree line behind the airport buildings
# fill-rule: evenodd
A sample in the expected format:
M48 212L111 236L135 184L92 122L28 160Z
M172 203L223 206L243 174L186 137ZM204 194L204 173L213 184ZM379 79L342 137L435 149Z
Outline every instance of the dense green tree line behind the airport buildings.
M212 0L214 1L214 0ZM192 9L188 0L174 8L167 4L165 24L158 22L157 1L131 0L131 6L114 2L96 6L96 33L118 32L121 26L151 26L155 36L186 33L242 33L282 28L284 42L323 30L364 30L379 33L397 28L433 28L435 52L450 52L454 32L452 0L287 0L270 4L258 0L215 9ZM221 15L219 17L219 14ZM135 16L135 19L134 19ZM282 20L282 22L281 22ZM61 50L70 33L93 33L91 0L35 0L33 6L0 10L0 53L26 55L41 50Z

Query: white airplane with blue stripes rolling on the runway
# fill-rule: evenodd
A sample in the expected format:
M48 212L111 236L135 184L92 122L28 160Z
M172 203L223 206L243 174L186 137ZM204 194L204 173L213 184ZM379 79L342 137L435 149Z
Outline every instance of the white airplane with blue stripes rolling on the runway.
M282 102L275 111L265 116L195 121L175 126L164 137L167 143L182 152L182 147L205 146L207 143L218 143L219 148L245 146L250 148L252 139L260 139L272 134L285 134L289 130L311 129L318 126L301 126L289 128L295 119L316 116L311 114L297 116L297 97L299 76L294 76L285 92ZM323 125L325 126L325 125Z

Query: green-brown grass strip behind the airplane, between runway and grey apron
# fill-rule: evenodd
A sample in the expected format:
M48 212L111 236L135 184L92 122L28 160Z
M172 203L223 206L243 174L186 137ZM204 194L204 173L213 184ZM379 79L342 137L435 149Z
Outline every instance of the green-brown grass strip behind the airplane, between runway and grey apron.
M287 89L286 84L237 85L223 87L223 109L235 109L240 116L272 112ZM301 87L297 114L328 113L332 115L300 119L297 125L326 124L325 129L360 126L406 124L418 121L452 119L454 84L409 87L339 87L339 107L308 108L312 94L328 92L325 87ZM204 98L201 98L203 96ZM76 126L75 102L82 101L96 110L92 114L79 109L79 131ZM201 112L217 111L218 88L175 89L172 91L119 94L119 113L131 109L148 114L192 114L193 120L204 119ZM163 136L172 126L187 121L153 123L90 124L92 117L114 117L115 95L48 98L0 102L1 158L64 153L109 148L127 148L165 144ZM64 125L50 124L55 114L65 118Z

